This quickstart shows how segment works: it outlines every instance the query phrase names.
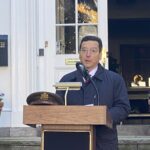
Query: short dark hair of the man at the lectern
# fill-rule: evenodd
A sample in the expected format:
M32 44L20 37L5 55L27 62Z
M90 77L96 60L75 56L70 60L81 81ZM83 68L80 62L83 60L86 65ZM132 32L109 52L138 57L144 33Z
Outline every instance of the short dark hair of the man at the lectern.
M86 41L96 41L98 42L99 44L99 51L101 52L102 51L102 47L103 47L103 44L102 44L102 40L97 37L97 36L93 36L93 35L87 35L85 37L82 38L81 42L80 42L80 49L81 49L81 45L83 42L86 42Z

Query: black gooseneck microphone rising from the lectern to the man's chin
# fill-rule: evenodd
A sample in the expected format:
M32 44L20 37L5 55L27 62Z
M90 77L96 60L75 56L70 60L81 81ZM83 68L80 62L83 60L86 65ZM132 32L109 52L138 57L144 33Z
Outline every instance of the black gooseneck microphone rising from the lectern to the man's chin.
M81 63L81 62L77 62L76 63L76 68L77 70L81 73L82 77L85 79L85 81L91 81L92 85L94 86L95 90L96 90L96 94L97 94L97 105L99 105L99 92L98 89L96 87L95 82L93 81L93 79L91 78L91 76L89 75L88 70L85 68L85 66Z

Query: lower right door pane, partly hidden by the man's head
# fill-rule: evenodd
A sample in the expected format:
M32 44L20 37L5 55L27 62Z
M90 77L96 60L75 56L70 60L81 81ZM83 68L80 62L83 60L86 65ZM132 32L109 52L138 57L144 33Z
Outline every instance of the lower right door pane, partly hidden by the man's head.
M89 25L89 26L79 26L78 27L78 35L79 35L79 44L81 39L85 35L98 35L98 30L96 25Z

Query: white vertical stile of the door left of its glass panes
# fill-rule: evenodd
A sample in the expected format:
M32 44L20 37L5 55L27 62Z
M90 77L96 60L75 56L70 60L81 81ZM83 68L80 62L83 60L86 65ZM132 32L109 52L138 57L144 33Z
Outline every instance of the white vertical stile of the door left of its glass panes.
M50 92L54 92L54 78L55 78L55 55L56 55L56 28L55 28L55 1L45 1L45 40L48 41L48 47L45 48L45 88Z

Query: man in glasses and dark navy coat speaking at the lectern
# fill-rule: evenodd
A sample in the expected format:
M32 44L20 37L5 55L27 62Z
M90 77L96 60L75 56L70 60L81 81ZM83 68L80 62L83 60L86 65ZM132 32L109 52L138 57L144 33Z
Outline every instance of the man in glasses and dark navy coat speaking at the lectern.
M81 40L79 58L88 70L99 92L99 105L107 105L113 121L113 128L96 126L96 150L117 150L116 124L124 120L130 112L127 90L123 78L104 69L99 61L102 54L102 41L96 36L85 36ZM97 94L92 83L85 82L78 70L73 71L60 82L82 82L81 90L69 91L68 105L97 105ZM64 98L64 91L57 91Z

